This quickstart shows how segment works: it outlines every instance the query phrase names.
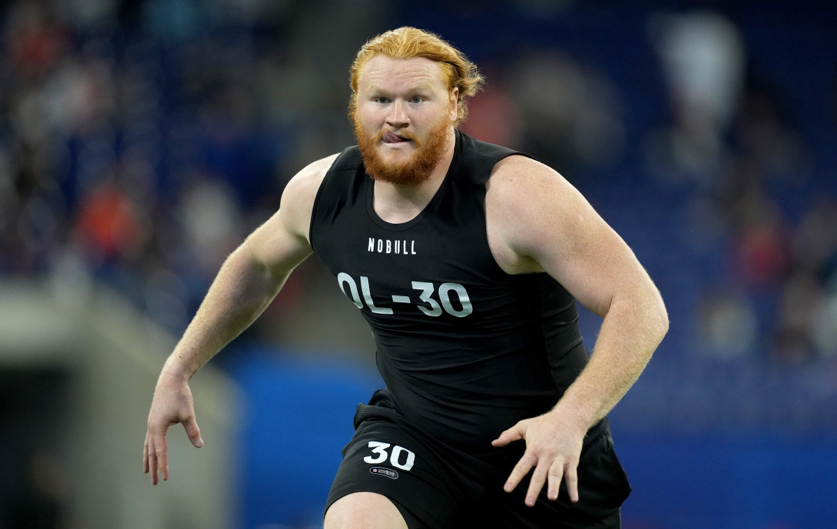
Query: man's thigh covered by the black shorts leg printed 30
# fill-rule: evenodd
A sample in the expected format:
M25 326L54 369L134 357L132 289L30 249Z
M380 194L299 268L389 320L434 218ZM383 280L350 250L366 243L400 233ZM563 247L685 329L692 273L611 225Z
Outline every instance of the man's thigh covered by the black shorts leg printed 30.
M447 466L436 450L398 424L364 421L343 449L326 512L341 498L372 492L391 501L409 529L453 527L461 501L456 480L439 472Z

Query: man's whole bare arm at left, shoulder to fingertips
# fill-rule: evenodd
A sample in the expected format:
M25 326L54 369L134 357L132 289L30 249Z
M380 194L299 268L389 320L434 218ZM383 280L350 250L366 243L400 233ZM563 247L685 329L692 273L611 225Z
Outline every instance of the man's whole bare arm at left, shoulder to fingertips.
M168 479L166 433L182 423L195 446L203 444L188 381L270 305L285 280L311 254L308 229L316 191L336 155L314 162L293 177L279 211L229 255L198 313L168 357L157 380L143 447L143 470L157 483Z

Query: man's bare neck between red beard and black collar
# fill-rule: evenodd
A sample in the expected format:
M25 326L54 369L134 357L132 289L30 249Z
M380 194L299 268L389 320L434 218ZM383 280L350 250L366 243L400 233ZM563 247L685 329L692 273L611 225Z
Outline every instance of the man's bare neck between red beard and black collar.
M416 185L403 185L392 182L375 181L375 198L373 206L375 213L388 223L405 223L421 213L433 199L445 175L448 174L450 163L454 159L456 139L451 129L444 149L444 156L439 160L430 177Z

